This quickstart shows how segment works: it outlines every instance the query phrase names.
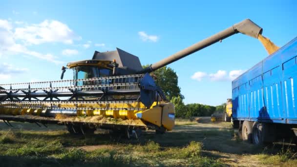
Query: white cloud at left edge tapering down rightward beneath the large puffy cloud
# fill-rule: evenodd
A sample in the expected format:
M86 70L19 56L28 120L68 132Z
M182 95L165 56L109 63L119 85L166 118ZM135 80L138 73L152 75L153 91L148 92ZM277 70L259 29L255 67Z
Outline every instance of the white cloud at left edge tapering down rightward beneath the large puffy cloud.
M62 63L57 61L56 57L51 54L31 51L25 45L18 43L15 38L15 33L12 31L11 22L0 20L0 56L17 54L33 56L53 63Z

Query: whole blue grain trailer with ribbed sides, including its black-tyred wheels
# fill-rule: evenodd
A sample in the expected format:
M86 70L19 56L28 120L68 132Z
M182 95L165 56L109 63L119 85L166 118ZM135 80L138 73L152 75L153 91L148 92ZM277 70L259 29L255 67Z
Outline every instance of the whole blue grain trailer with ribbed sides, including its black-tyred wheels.
M297 38L232 82L233 127L256 145L296 138L296 96Z

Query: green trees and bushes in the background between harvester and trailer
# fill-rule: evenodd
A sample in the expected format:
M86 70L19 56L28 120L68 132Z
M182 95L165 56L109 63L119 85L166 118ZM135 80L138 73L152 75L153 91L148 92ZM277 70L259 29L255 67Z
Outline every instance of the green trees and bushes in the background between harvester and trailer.
M145 65L143 67L147 67ZM168 100L175 106L175 116L177 118L191 118L201 116L211 116L214 112L224 112L225 104L212 106L205 104L184 104L184 96L178 86L178 76L170 67L162 67L151 73L156 80L156 84L164 91Z

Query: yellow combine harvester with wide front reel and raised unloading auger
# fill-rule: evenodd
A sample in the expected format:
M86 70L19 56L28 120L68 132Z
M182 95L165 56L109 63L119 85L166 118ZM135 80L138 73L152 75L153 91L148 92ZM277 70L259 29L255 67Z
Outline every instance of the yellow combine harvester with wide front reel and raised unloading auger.
M238 32L257 39L262 28L244 20L145 69L138 57L117 48L68 63L61 79L72 69L73 80L0 84L0 120L9 126L10 121L66 125L75 134L96 128L136 138L145 129L164 133L174 127L174 105L149 73Z

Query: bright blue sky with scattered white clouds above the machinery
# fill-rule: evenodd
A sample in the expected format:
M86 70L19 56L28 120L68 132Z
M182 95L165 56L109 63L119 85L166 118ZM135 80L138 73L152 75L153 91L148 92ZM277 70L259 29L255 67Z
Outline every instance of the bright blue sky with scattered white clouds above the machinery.
M247 18L283 46L297 37L296 7L295 0L2 0L0 83L59 80L67 62L116 47L155 63ZM236 34L169 66L186 104L218 105L231 98L232 78L267 56L259 41Z

